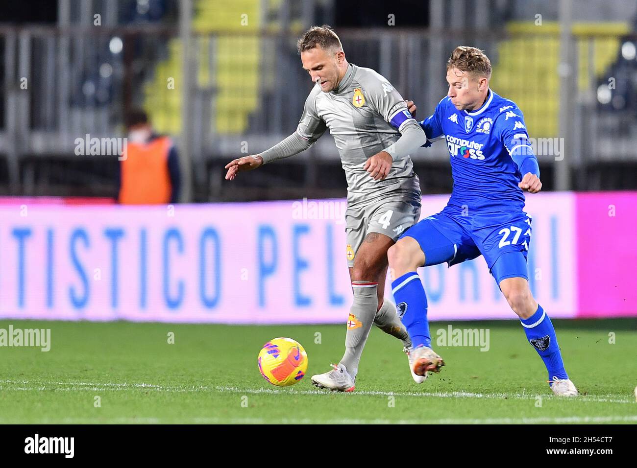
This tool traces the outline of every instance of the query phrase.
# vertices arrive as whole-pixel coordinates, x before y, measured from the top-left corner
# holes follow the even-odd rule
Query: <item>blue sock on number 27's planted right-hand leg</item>
[[[562,355],[559,352],[555,329],[540,304],[538,304],[538,310],[533,315],[529,318],[520,318],[520,322],[522,322],[529,343],[533,344],[533,348],[538,351],[544,361],[544,365],[547,366],[548,380],[552,382],[554,376],[559,379],[568,379],[566,370],[564,370]],[[551,383],[550,385],[553,384]]]

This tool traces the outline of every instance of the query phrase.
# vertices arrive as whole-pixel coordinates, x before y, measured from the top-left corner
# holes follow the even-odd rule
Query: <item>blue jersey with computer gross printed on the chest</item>
[[[429,143],[444,138],[450,154],[454,190],[448,206],[483,213],[522,211],[522,176],[540,176],[524,117],[509,99],[489,90],[475,111],[459,111],[443,98],[420,125]]]

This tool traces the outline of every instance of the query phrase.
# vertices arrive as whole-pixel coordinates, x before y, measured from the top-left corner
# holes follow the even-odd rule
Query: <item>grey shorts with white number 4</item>
[[[354,267],[354,257],[362,241],[370,232],[385,234],[396,241],[404,231],[420,218],[420,199],[387,197],[364,206],[347,208],[347,265]]]

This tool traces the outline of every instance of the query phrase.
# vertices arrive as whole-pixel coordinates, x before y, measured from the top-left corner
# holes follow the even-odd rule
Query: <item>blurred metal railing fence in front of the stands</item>
[[[183,74],[175,28],[0,26],[0,154],[6,169],[0,192],[108,196],[117,161],[110,155],[76,155],[76,139],[86,134],[124,137],[125,111],[143,105],[157,130],[169,132],[179,144],[179,90],[188,86],[193,97],[186,109],[192,122],[187,146],[196,199],[222,199],[221,162],[258,152],[294,131],[311,82],[296,53],[296,32],[214,29],[194,29],[192,73]],[[445,96],[450,50],[476,43],[492,59],[494,90],[519,103],[531,136],[547,145],[548,154],[540,154],[543,170],[550,172],[561,156],[556,153],[562,152],[573,167],[573,188],[621,188],[622,177],[631,178],[630,167],[637,161],[636,99],[634,90],[617,89],[627,80],[609,75],[617,70],[622,45],[637,43],[637,35],[623,25],[574,26],[574,86],[567,90],[560,89],[556,71],[557,25],[529,29],[509,24],[497,31],[342,29],[339,34],[348,60],[383,74],[419,104],[421,118]],[[175,78],[173,89],[169,78]],[[574,110],[568,134],[557,118],[557,97],[564,92]],[[612,108],[613,99],[624,99],[624,106]],[[272,180],[292,188],[289,195],[294,196],[300,193],[294,187],[317,187],[325,167],[338,168],[329,136],[307,153],[285,163],[309,165],[301,174],[297,169],[264,172],[248,196],[273,197],[259,188]],[[444,145],[434,145],[414,158],[444,164],[447,152]],[[617,178],[611,187],[605,182],[609,176]],[[324,194],[332,194],[331,189]]]

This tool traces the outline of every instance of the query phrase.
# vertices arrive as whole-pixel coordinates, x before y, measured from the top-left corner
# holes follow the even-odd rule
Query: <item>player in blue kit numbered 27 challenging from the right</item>
[[[428,144],[445,139],[454,188],[447,206],[406,230],[387,257],[399,315],[412,337],[415,374],[439,372],[442,358],[431,349],[427,297],[416,269],[449,266],[483,255],[529,343],[547,367],[555,395],[575,396],[546,311],[535,301],[527,276],[531,218],[523,190],[541,190],[540,168],[522,111],[489,89],[491,64],[482,50],[459,46],[447,62],[449,90],[420,125]]]

